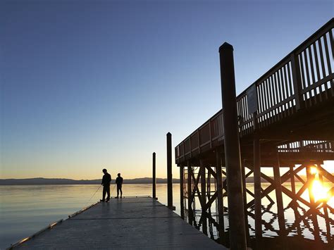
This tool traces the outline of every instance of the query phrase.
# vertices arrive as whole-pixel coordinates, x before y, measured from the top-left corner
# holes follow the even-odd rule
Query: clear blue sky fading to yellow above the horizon
[[[0,0],[0,178],[150,177],[154,151],[166,177],[167,132],[221,109],[223,42],[238,94],[332,17],[330,0]]]

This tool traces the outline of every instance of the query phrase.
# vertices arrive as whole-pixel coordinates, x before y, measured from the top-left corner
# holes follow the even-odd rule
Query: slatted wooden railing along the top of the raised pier
[[[252,135],[254,120],[261,130],[299,110],[333,101],[333,28],[334,18],[237,96],[240,138]],[[175,161],[184,162],[222,144],[221,110],[175,147]]]

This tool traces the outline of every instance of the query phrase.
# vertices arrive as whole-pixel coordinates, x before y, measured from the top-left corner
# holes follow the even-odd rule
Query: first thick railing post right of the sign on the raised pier
[[[291,54],[291,68],[292,68],[292,80],[293,90],[295,92],[295,100],[297,110],[304,108],[304,100],[302,95],[302,77],[300,75],[300,66],[298,55],[295,53]]]

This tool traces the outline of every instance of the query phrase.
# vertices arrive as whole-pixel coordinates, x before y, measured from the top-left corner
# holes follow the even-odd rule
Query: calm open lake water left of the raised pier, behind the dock
[[[41,230],[50,223],[101,199],[99,185],[0,186],[0,249]],[[112,196],[116,189],[111,185]],[[151,195],[149,184],[125,184],[123,196]],[[167,185],[156,185],[156,196],[167,204]],[[180,185],[173,185],[174,206],[180,214]],[[89,199],[92,199],[89,201]]]

